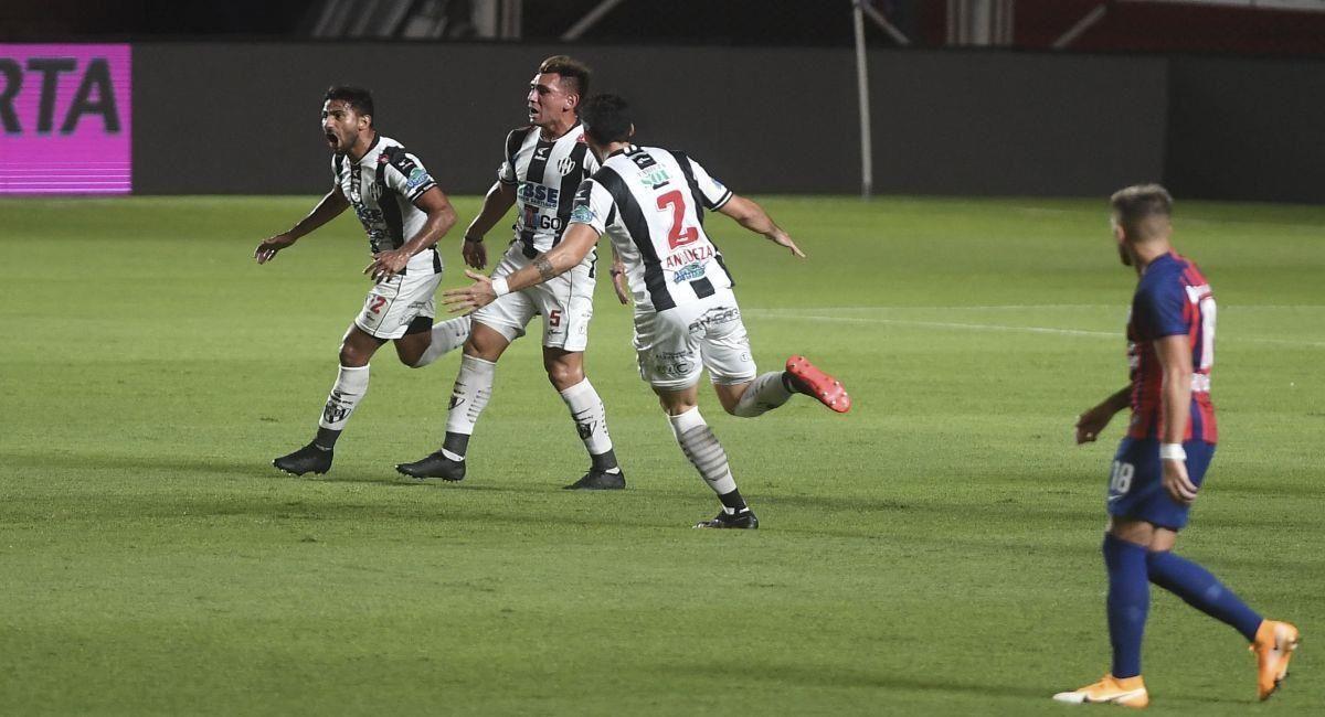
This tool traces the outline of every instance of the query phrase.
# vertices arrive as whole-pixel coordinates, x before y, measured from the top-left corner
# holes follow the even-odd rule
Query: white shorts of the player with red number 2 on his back
[[[660,389],[693,386],[705,368],[714,384],[755,377],[750,337],[730,290],[657,314],[636,314],[635,355],[640,378]]]

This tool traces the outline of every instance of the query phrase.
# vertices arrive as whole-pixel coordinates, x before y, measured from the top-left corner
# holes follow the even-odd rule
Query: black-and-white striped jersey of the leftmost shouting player
[[[331,157],[331,171],[359,216],[374,253],[400,249],[428,221],[428,213],[413,202],[437,183],[399,142],[378,135],[359,161],[339,153]],[[405,273],[439,271],[441,255],[436,247],[415,254],[405,265]]]

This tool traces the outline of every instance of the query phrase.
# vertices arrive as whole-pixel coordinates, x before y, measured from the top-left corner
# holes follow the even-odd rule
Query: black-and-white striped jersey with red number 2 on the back
[[[613,152],[575,193],[571,222],[611,237],[639,308],[666,311],[733,286],[704,212],[731,190],[697,161],[657,147]]]

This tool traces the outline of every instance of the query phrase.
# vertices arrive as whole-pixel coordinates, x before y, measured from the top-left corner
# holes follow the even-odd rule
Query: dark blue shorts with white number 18
[[[1187,478],[1200,487],[1206,468],[1215,458],[1215,444],[1187,441],[1182,448],[1187,451]],[[1187,525],[1187,512],[1191,508],[1169,497],[1161,483],[1162,478],[1159,441],[1124,438],[1109,471],[1109,515],[1143,520],[1173,530]]]

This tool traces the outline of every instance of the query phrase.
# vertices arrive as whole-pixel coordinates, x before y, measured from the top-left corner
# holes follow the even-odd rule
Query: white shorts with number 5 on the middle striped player
[[[543,345],[582,352],[588,347],[588,321],[594,317],[594,254],[575,269],[541,284],[511,291],[473,314],[478,321],[514,341],[535,315],[543,317]],[[513,245],[493,278],[507,276],[530,263]]]

